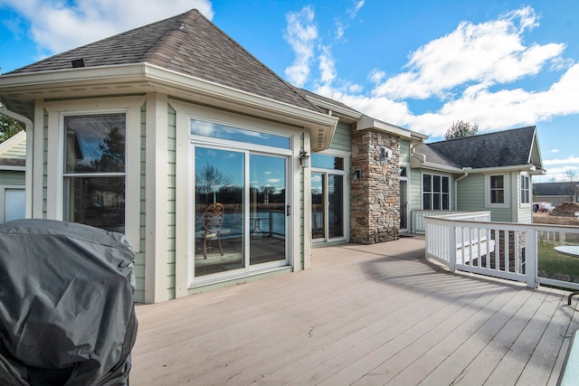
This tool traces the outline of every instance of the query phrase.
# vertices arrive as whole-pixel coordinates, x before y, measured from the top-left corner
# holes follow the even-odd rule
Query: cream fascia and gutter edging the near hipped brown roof
[[[261,97],[250,92],[233,89],[208,80],[201,80],[177,71],[166,70],[150,63],[120,64],[115,66],[86,67],[58,71],[39,71],[8,74],[0,77],[0,93],[32,92],[37,98],[55,98],[54,89],[88,88],[98,85],[133,87],[124,92],[157,90],[184,98],[203,99],[207,103],[223,106],[257,117],[277,119],[298,127],[305,127],[312,137],[323,136],[323,149],[329,147],[338,118]],[[118,92],[122,92],[120,87]],[[44,93],[44,95],[43,95]],[[94,94],[94,90],[91,90]],[[318,141],[312,141],[316,143]]]

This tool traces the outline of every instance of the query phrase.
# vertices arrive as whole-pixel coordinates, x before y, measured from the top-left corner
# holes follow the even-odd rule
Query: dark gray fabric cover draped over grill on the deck
[[[134,257],[88,225],[0,224],[0,384],[128,384]]]

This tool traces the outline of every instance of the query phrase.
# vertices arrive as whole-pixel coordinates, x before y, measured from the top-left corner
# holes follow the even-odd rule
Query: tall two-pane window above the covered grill
[[[125,113],[64,117],[63,219],[125,231]]]

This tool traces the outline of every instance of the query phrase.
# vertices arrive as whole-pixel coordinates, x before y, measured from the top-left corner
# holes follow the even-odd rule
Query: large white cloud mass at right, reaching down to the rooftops
[[[562,57],[565,45],[524,44],[524,33],[537,19],[533,8],[524,7],[482,24],[463,22],[413,52],[406,71],[390,77],[371,71],[372,90],[348,89],[336,71],[331,83],[314,91],[431,137],[442,137],[457,119],[489,131],[579,113],[579,64]],[[564,72],[549,89],[509,88],[515,80],[554,69]],[[407,99],[435,100],[440,107],[416,114]]]

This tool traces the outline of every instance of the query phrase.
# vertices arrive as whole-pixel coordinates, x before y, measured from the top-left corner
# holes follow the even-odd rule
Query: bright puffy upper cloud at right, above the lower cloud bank
[[[508,83],[536,75],[565,49],[564,44],[523,44],[523,33],[536,26],[532,8],[482,24],[462,22],[457,29],[413,52],[402,72],[373,91],[391,99],[444,99],[469,82]]]

